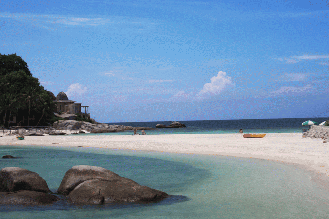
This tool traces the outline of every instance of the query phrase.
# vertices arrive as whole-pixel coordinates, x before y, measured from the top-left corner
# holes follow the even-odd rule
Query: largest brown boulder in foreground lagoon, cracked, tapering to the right
[[[96,166],[72,167],[65,173],[57,192],[67,195],[73,203],[84,204],[156,202],[168,196]]]

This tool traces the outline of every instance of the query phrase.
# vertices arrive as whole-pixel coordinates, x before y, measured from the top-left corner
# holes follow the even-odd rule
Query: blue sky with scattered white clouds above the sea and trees
[[[329,117],[327,1],[0,2],[0,53],[99,122]]]

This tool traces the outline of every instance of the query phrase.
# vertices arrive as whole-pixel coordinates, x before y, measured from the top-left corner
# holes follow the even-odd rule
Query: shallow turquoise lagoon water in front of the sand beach
[[[155,204],[0,206],[0,218],[329,218],[329,191],[268,160],[90,148],[0,146],[0,168],[37,172],[55,191],[74,165],[109,169],[171,196]]]

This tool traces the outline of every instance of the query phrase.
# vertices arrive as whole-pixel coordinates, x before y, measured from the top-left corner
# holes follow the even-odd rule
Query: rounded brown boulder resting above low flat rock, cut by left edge
[[[29,190],[51,192],[46,181],[36,172],[19,167],[6,167],[0,170],[0,192]]]

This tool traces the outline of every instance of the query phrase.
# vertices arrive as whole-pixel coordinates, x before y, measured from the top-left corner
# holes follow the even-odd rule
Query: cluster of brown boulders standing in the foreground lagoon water
[[[52,204],[61,195],[74,204],[149,203],[168,196],[97,166],[73,166],[65,173],[56,193],[35,172],[19,167],[0,170],[0,204]]]

